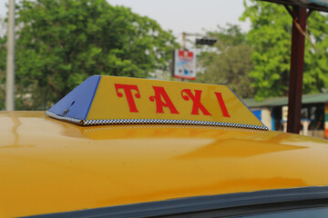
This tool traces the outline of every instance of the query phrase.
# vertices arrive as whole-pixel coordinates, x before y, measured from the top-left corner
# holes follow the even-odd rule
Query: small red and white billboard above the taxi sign
[[[186,50],[175,50],[173,76],[180,79],[196,79],[196,54]]]

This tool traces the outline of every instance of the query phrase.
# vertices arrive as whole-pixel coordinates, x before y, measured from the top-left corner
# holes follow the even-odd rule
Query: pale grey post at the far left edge
[[[15,110],[15,0],[9,0],[5,110]]]

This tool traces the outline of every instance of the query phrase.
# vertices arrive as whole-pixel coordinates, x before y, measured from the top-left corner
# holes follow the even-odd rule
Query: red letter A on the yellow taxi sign
[[[171,114],[179,114],[174,104],[169,99],[169,95],[165,92],[163,87],[152,86],[155,91],[155,96],[150,96],[149,100],[151,102],[156,101],[156,113],[164,113],[163,107],[169,107]],[[164,102],[162,101],[162,98]]]

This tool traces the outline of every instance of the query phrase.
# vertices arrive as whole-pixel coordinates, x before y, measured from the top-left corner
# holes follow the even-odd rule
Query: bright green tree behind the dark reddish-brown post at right
[[[245,5],[241,20],[251,20],[251,30],[247,41],[252,46],[251,59],[254,64],[250,77],[255,97],[288,94],[292,17],[283,5],[251,0]],[[305,42],[303,93],[317,93],[328,86],[328,21],[327,15],[313,12],[308,18],[308,31],[320,52],[315,52],[308,41]]]

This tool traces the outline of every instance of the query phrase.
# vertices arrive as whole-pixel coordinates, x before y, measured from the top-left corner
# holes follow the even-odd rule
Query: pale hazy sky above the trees
[[[9,0],[0,0],[0,16],[5,17]],[[19,2],[19,0],[15,0]],[[108,0],[111,5],[124,5],[138,15],[156,20],[164,30],[172,30],[181,40],[182,32],[204,34],[227,23],[250,29],[250,22],[241,22],[243,0]],[[179,42],[181,43],[181,42]]]

